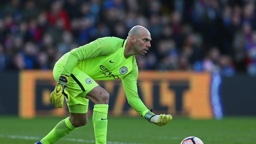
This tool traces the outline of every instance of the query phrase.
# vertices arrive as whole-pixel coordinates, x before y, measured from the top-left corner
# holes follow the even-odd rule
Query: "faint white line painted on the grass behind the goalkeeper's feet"
[[[33,136],[15,136],[15,135],[1,135],[0,137],[7,137],[12,139],[28,139],[28,140],[40,140],[40,137],[33,137]],[[84,139],[70,139],[64,138],[64,141],[73,141],[73,142],[81,142],[81,143],[95,143],[95,140],[84,140]],[[123,143],[123,142],[110,142],[107,141],[107,144],[141,144],[141,143]]]

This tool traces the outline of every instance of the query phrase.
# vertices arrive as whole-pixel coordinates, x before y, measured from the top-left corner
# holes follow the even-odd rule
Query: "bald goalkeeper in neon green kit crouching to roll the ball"
[[[126,40],[116,37],[99,38],[64,54],[53,69],[58,82],[50,95],[55,107],[62,107],[65,99],[70,116],[60,121],[36,144],[52,144],[87,123],[88,102],[95,103],[93,126],[96,144],[106,144],[108,92],[94,80],[121,79],[128,103],[147,121],[158,126],[170,122],[171,115],[156,115],[148,110],[137,93],[138,67],[135,54],[145,55],[151,36],[142,26],[134,26]]]

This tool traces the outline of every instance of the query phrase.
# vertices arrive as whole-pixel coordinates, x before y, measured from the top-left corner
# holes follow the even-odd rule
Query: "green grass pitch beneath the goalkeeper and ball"
[[[64,118],[24,120],[0,116],[0,144],[34,144]],[[256,117],[227,117],[222,120],[176,118],[158,127],[142,117],[108,118],[109,144],[180,144],[188,136],[199,137],[204,144],[255,143]],[[38,139],[39,138],[39,139]],[[56,144],[93,143],[91,118],[88,124],[69,133]]]

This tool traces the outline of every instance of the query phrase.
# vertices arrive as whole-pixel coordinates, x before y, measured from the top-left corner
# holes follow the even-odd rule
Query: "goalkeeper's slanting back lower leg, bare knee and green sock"
[[[70,113],[70,117],[60,121],[42,140],[42,144],[52,144],[69,132],[87,123],[87,113]]]

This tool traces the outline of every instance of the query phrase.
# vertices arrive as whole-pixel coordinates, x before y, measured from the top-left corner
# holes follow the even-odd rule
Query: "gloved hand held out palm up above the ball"
[[[148,111],[145,114],[144,118],[146,120],[148,120],[149,122],[154,123],[158,126],[166,125],[172,120],[171,115],[165,115],[165,114],[156,115],[156,114],[152,113],[152,110]]]

